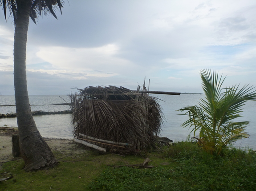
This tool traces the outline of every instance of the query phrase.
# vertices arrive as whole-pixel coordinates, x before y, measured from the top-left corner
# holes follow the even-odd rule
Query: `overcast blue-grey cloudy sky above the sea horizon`
[[[65,0],[58,19],[30,19],[28,94],[88,86],[203,93],[200,70],[223,86],[256,86],[255,0]],[[13,95],[13,18],[0,11],[0,94]]]

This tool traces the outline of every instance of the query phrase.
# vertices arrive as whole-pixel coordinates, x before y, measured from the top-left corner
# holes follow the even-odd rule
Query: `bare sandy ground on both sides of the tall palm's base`
[[[0,169],[4,162],[14,159],[12,156],[12,135],[15,134],[17,134],[17,131],[14,130],[0,131]],[[45,137],[44,139],[52,151],[55,150],[65,155],[85,152],[85,149],[79,147],[71,139],[54,139]]]

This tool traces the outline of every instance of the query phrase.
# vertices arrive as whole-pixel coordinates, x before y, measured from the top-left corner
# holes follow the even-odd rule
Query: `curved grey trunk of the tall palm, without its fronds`
[[[26,79],[26,44],[30,1],[17,4],[14,34],[14,88],[21,155],[26,171],[53,167],[57,160],[43,140],[32,116]]]

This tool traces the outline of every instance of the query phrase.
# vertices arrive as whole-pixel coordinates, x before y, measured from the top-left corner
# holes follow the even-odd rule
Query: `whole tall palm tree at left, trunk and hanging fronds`
[[[29,17],[36,23],[35,18],[41,11],[52,13],[59,8],[60,0],[0,0],[6,19],[6,9],[13,16],[14,33],[14,89],[16,101],[17,124],[19,129],[20,150],[24,159],[26,171],[53,167],[57,160],[48,144],[37,130],[33,120],[27,89],[26,79],[26,45]],[[57,17],[56,17],[57,18]]]

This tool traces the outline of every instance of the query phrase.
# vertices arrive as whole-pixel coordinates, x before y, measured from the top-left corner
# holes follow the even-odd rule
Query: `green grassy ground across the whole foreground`
[[[4,163],[0,173],[13,179],[0,182],[0,191],[254,191],[256,153],[223,149],[212,156],[191,142],[175,143],[150,152],[155,168],[113,168],[141,164],[145,157],[86,151],[73,156],[54,152],[58,167],[24,172],[23,161]]]

